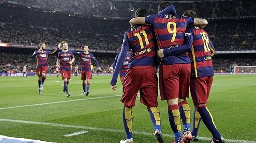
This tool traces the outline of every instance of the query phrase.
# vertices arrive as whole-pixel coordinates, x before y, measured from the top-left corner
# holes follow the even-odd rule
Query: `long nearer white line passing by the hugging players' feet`
[[[48,125],[48,126],[55,126],[55,127],[66,127],[66,128],[80,128],[80,129],[84,129],[84,130],[111,131],[111,132],[125,133],[125,131],[117,130],[117,129],[94,128],[94,127],[68,125],[68,124],[56,124],[56,123],[33,122],[33,121],[10,120],[10,119],[0,119],[0,121],[14,122],[14,123],[24,123],[24,124],[40,124],[40,125]],[[134,134],[139,134],[139,135],[154,135],[153,132],[133,131],[133,133]],[[165,137],[165,136],[166,137],[173,137],[173,135],[171,135],[171,134],[163,134],[163,137]],[[207,140],[207,141],[210,140],[210,138],[207,138],[207,137],[199,137],[199,139]],[[236,139],[225,139],[225,141],[231,142],[231,143],[256,143],[256,141],[236,140]]]

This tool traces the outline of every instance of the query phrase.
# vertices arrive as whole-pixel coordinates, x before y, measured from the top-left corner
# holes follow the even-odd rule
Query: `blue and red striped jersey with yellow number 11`
[[[152,27],[146,25],[130,27],[124,35],[123,46],[129,46],[132,50],[129,67],[156,66]]]

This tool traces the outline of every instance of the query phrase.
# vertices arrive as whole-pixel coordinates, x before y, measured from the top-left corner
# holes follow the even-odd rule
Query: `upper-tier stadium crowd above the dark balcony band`
[[[69,8],[76,9],[80,7],[78,3],[77,6],[73,5],[72,7],[72,4],[69,4],[68,1],[59,1],[60,3],[58,4],[63,3],[64,5],[71,5],[70,7],[63,7],[66,8],[65,10],[72,11],[72,9]],[[44,7],[49,6],[49,8],[53,6],[51,3],[55,2],[56,1],[47,1],[46,3],[41,0],[36,0],[38,5]],[[89,5],[93,3],[97,10],[90,11],[99,12],[98,14],[101,15],[102,13],[108,13],[105,12],[105,8],[107,7],[100,9],[101,7],[96,7],[96,5],[102,5],[106,2],[106,0],[95,0],[93,2],[89,1],[89,3],[86,4]],[[32,2],[19,0],[19,3],[31,5]],[[110,3],[116,11],[118,11],[118,8],[125,9],[124,7],[129,5],[129,7],[134,6],[134,8],[132,8],[134,10],[137,7],[149,7],[151,13],[156,12],[155,5],[157,5],[145,1],[126,1],[122,2],[123,6],[121,6],[118,1],[110,1]],[[183,13],[182,11],[185,10],[184,4],[177,2],[174,4],[177,13]],[[204,12],[203,9],[200,9],[198,6],[199,4],[204,5],[209,8],[209,10]],[[244,14],[244,8],[241,6],[248,6],[250,3],[243,1],[242,4],[240,4],[234,0],[223,2],[206,1],[187,4],[186,8],[191,7],[191,9],[196,9],[199,17],[227,17],[226,15],[220,15],[219,12],[223,12],[223,10],[225,10],[224,5],[229,4],[240,5],[240,7],[236,8],[234,12],[232,11],[234,8],[231,8],[231,11],[225,13],[227,16],[233,15],[234,13],[237,13],[237,15]],[[88,11],[87,8],[83,9],[86,9],[86,12]],[[240,11],[237,9],[240,9]],[[251,12],[250,9],[252,8],[249,6],[247,13],[255,15],[255,12]],[[126,11],[123,12],[126,13]],[[112,13],[122,14],[122,12],[119,11],[113,11]],[[127,13],[126,16],[128,16]],[[130,15],[130,17],[132,16],[133,15]],[[216,50],[255,50],[256,29],[252,23],[256,23],[255,19],[215,19],[210,20],[205,29],[208,31]],[[50,46],[57,46],[59,41],[65,40],[69,42],[70,47],[81,47],[86,44],[90,45],[92,49],[120,50],[123,33],[129,27],[130,24],[127,19],[102,19],[101,17],[74,16],[74,14],[69,16],[68,13],[63,12],[42,11],[36,8],[27,8],[5,3],[0,4],[0,41],[4,43],[37,44],[41,41],[45,41]]]

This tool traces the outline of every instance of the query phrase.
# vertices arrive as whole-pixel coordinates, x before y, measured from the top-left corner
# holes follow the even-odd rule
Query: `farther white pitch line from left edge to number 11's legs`
[[[29,106],[40,106],[40,105],[56,104],[56,103],[65,103],[65,102],[73,102],[73,101],[80,101],[80,100],[100,99],[100,98],[108,98],[108,97],[120,97],[120,96],[122,96],[122,95],[114,95],[114,96],[107,96],[107,97],[94,97],[94,98],[85,98],[85,99],[76,99],[76,100],[66,100],[66,101],[49,102],[49,103],[41,103],[41,104],[31,104],[31,105],[22,105],[22,106],[12,106],[12,107],[0,108],[0,110],[11,109],[11,108],[20,108],[20,107],[29,107]]]

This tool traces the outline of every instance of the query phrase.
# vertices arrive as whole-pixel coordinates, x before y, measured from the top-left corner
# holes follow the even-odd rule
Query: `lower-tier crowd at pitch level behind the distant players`
[[[0,53],[0,73],[9,73],[13,71],[13,73],[20,73],[25,64],[28,65],[28,72],[33,70],[35,73],[36,70],[36,58],[30,58],[31,54],[14,54],[14,53]],[[95,57],[102,68],[102,72],[109,72],[108,69],[114,62],[113,57]],[[80,60],[77,56],[75,56],[75,62],[72,64],[74,67],[76,64],[80,65]],[[57,55],[50,55],[48,58],[48,73],[54,73],[56,71],[55,63],[57,60]],[[255,66],[256,58],[212,58],[213,67],[215,73],[221,72],[231,72],[232,65],[236,63],[238,66]],[[93,63],[93,66],[96,66]],[[231,68],[231,69],[230,69]],[[74,68],[73,68],[74,69]],[[96,73],[96,68],[93,71]],[[100,72],[101,73],[101,72]]]

